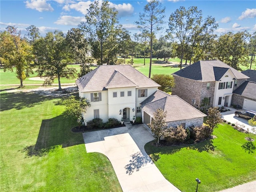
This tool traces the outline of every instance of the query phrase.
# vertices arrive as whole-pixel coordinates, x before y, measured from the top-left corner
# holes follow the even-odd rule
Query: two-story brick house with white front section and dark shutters
[[[196,108],[209,98],[210,107],[230,106],[233,90],[249,77],[220,60],[200,60],[172,74],[177,95]]]

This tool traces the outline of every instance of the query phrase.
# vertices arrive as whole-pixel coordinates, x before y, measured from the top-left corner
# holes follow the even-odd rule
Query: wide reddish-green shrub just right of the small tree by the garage
[[[188,132],[181,125],[177,128],[169,127],[163,131],[163,137],[170,144],[183,143],[188,137]]]

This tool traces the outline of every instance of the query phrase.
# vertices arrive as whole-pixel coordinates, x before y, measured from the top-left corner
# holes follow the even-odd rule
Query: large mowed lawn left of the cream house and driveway
[[[2,90],[1,90],[2,91]],[[59,98],[2,91],[0,191],[122,191],[109,160],[86,153]]]

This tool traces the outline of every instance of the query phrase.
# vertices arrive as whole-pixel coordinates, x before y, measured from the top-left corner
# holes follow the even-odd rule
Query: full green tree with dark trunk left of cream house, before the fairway
[[[38,59],[37,72],[40,77],[45,77],[44,84],[52,84],[54,78],[58,78],[59,90],[62,90],[60,77],[74,78],[76,69],[67,65],[71,61],[66,37],[61,31],[46,33],[34,44]]]

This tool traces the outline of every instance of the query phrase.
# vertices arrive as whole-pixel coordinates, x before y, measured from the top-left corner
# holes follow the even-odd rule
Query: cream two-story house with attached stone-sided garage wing
[[[88,98],[91,104],[84,114],[85,121],[94,118],[102,118],[104,122],[108,118],[132,120],[136,116],[147,124],[154,111],[162,108],[167,111],[166,121],[170,125],[188,127],[202,125],[206,116],[178,96],[158,90],[159,84],[130,65],[99,66],[76,80],[76,84],[79,96]]]

